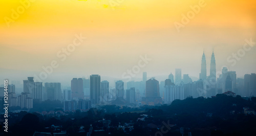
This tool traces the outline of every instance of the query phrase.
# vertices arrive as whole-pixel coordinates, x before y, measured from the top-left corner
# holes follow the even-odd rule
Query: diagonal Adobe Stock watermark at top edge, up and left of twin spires
[[[209,0],[210,1],[210,0]],[[180,32],[180,28],[184,28],[185,25],[187,25],[191,19],[193,19],[196,14],[198,14],[200,11],[201,11],[201,8],[205,7],[206,6],[206,3],[204,0],[200,0],[198,2],[198,5],[195,5],[195,6],[189,6],[191,10],[189,10],[186,15],[185,14],[181,14],[182,18],[181,18],[181,21],[178,22],[178,21],[175,21],[174,22],[174,26],[175,28],[177,29],[178,32]]]

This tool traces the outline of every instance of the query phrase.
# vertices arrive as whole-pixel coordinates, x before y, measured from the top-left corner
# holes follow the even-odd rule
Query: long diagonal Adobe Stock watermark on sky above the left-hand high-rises
[[[65,61],[67,59],[67,56],[70,56],[72,52],[75,51],[76,47],[80,46],[86,37],[83,37],[82,34],[80,35],[75,34],[73,43],[68,44],[66,48],[62,48],[60,51],[57,52],[57,57],[60,59],[60,61]],[[34,74],[34,80],[38,82],[42,82],[42,80],[45,80],[48,75],[52,74],[53,70],[56,69],[59,66],[58,61],[52,60],[50,65],[42,66],[42,72],[39,73],[39,75]]]

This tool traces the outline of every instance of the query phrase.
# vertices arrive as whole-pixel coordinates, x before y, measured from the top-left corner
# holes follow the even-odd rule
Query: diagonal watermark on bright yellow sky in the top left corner
[[[19,5],[16,10],[11,9],[12,13],[11,13],[11,17],[4,17],[5,23],[7,25],[7,27],[10,27],[11,22],[15,22],[15,20],[17,20],[19,18],[19,16],[21,14],[23,14],[25,12],[26,9],[28,9],[31,6],[31,3],[34,3],[36,0],[20,0],[19,3],[21,5]]]

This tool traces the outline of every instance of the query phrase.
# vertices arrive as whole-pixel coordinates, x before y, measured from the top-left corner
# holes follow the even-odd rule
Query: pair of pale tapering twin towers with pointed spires
[[[207,79],[207,76],[206,76],[206,59],[205,59],[204,53],[203,53],[203,56],[202,56],[201,73],[200,73],[199,77],[202,80],[206,80]],[[211,59],[210,59],[210,76],[208,78],[216,80],[216,62],[215,62],[214,51],[212,51],[212,54],[211,54]]]

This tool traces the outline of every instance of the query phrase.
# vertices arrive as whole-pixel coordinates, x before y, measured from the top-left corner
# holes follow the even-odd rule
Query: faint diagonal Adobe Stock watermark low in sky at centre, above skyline
[[[146,54],[145,56],[140,55],[140,60],[138,61],[138,65],[134,65],[132,67],[132,70],[127,70],[122,74],[122,79],[128,79],[127,81],[130,81],[132,78],[136,76],[136,74],[140,73],[140,70],[146,66],[146,64],[151,61],[152,58],[147,58]]]

